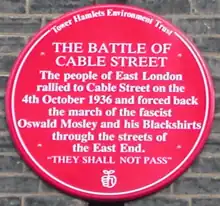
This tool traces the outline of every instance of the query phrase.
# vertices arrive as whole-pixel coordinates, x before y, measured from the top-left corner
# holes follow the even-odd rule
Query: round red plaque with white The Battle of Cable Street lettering
[[[68,13],[20,54],[7,121],[43,179],[83,198],[128,200],[190,166],[214,114],[208,69],[174,26],[142,9]]]

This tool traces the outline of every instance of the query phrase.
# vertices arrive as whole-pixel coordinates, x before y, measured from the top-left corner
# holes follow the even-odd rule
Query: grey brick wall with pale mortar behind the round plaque
[[[106,2],[97,0],[97,3]],[[15,58],[35,31],[64,12],[92,3],[88,0],[0,0],[0,206],[87,205],[84,201],[68,197],[46,185],[19,158],[5,122],[4,90]],[[220,0],[129,0],[128,4],[163,15],[195,41],[210,66],[217,105],[212,134],[189,171],[163,191],[125,205],[218,206]]]

